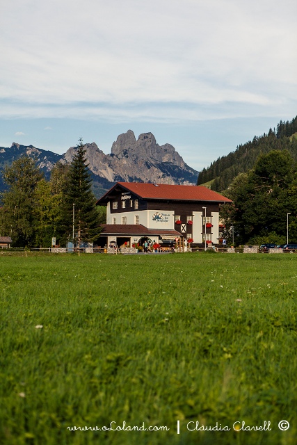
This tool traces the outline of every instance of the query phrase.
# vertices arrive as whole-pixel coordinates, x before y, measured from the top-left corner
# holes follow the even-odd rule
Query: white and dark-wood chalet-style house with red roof
[[[225,202],[232,201],[204,186],[118,182],[97,201],[106,205],[99,243],[120,248],[149,239],[164,245],[183,237],[203,245],[206,237],[216,244]]]

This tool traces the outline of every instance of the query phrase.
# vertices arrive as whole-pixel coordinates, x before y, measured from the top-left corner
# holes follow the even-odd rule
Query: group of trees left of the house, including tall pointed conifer
[[[57,245],[96,241],[105,215],[96,206],[86,161],[80,139],[72,163],[56,163],[49,181],[28,156],[6,166],[0,235],[10,236],[18,247],[48,248],[53,237]]]

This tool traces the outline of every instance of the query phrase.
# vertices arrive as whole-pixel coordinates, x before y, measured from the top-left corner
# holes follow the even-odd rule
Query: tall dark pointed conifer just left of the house
[[[74,238],[77,239],[78,245],[84,241],[95,241],[99,236],[96,198],[91,188],[92,179],[86,161],[86,149],[80,138],[77,152],[70,164],[65,200],[67,232],[72,234],[72,229],[74,229]]]

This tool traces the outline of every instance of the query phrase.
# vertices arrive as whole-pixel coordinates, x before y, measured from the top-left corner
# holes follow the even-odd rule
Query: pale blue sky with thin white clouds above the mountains
[[[152,132],[196,170],[297,115],[294,0],[0,6],[0,146],[108,154]]]

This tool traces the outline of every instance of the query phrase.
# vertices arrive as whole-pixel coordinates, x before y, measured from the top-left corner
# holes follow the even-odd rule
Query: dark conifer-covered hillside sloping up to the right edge
[[[260,154],[267,154],[273,149],[287,149],[293,159],[297,160],[297,116],[291,122],[282,122],[277,129],[269,129],[263,136],[253,138],[248,143],[239,145],[234,152],[222,156],[204,168],[198,177],[198,185],[212,181],[211,189],[222,192],[232,179],[241,172],[248,172]]]

